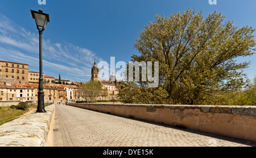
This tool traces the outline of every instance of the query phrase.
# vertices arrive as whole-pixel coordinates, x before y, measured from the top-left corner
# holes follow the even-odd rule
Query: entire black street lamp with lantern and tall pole
[[[38,110],[36,113],[46,113],[44,109],[44,90],[43,90],[43,72],[42,72],[42,35],[46,28],[47,22],[49,22],[49,14],[43,13],[43,10],[30,10],[32,18],[35,19],[36,27],[39,31],[39,91],[38,91]]]

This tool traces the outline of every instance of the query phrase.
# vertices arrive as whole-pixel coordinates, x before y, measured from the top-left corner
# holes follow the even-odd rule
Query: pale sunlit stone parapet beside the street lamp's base
[[[0,126],[0,147],[46,147],[53,145],[55,104],[47,113],[31,113]]]

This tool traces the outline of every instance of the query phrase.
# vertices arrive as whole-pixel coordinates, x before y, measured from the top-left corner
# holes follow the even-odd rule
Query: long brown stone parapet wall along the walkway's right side
[[[70,103],[69,106],[256,142],[256,106],[122,103]]]

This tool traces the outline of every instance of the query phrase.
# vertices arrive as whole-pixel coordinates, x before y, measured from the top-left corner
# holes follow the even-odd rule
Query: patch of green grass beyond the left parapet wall
[[[32,110],[32,109],[36,109],[36,107],[37,107],[37,105],[30,105],[30,106],[28,106],[28,109]],[[7,107],[7,106],[1,107],[1,109],[0,109],[0,126],[4,123],[10,122],[10,121],[20,117],[27,111],[20,110],[20,109],[12,109],[11,107]]]

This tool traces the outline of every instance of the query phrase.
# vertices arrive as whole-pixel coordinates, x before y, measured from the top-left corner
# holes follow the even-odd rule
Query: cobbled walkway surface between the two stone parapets
[[[56,105],[57,147],[243,147],[256,143]]]

